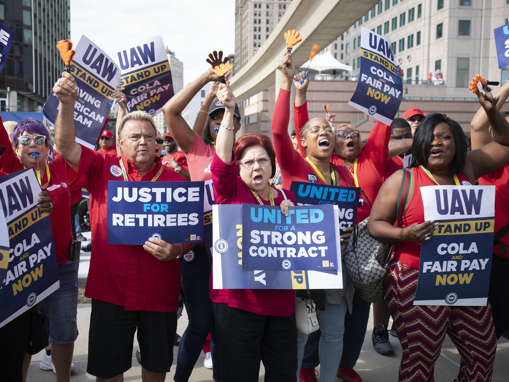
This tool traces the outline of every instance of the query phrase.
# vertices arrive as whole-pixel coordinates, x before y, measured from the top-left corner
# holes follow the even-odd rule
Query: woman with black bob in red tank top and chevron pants
[[[413,305],[420,244],[431,237],[436,223],[424,220],[420,186],[468,185],[509,159],[509,123],[496,110],[496,101],[479,93],[493,126],[495,142],[467,152],[461,126],[443,114],[422,120],[412,145],[411,185],[401,227],[394,227],[403,173],[382,185],[370,215],[370,233],[395,241],[394,258],[387,268],[384,292],[403,347],[400,381],[433,380],[434,365],[445,334],[461,355],[459,380],[491,380],[496,338],[491,306]],[[502,146],[504,145],[504,146]],[[429,335],[432,331],[433,335]],[[482,373],[479,375],[478,373]]]

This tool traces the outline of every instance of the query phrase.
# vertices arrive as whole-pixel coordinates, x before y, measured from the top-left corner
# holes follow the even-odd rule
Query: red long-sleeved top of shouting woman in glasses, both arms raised
[[[299,121],[304,121],[305,119],[302,125],[308,120],[307,103],[299,106],[299,111],[303,108],[305,108],[305,115],[302,112],[296,117]],[[279,165],[279,170],[281,170],[283,188],[289,189],[292,180],[309,182],[310,178],[316,178],[316,183],[324,184],[309,163],[293,148],[292,140],[290,135],[288,135],[289,121],[290,92],[288,90],[279,89],[279,95],[274,106],[274,113],[272,114],[272,141],[274,142],[277,164]],[[297,135],[299,134],[300,130],[297,132]],[[337,167],[337,172],[340,176],[336,179],[336,185],[353,186],[350,181],[350,174],[343,165]]]

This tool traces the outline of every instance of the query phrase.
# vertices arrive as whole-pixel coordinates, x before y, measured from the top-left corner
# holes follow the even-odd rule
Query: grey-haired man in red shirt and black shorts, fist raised
[[[64,72],[53,87],[60,101],[55,142],[67,161],[67,179],[90,192],[92,254],[85,295],[92,298],[87,372],[97,380],[123,380],[131,367],[134,333],[142,352],[142,379],[164,380],[173,362],[180,266],[176,258],[193,244],[149,238],[145,245],[108,244],[108,180],[182,181],[155,158],[156,128],[144,112],[133,112],[119,127],[123,155],[101,156],[74,141],[74,78]]]

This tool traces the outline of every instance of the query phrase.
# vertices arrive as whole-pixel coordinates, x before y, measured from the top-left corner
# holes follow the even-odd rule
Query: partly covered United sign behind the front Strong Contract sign
[[[294,193],[298,205],[336,205],[340,220],[340,232],[345,228],[353,227],[359,206],[360,187],[292,181],[290,191]]]

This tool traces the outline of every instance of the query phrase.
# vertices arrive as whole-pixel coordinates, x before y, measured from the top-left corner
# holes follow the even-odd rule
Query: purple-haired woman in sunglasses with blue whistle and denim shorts
[[[8,146],[0,159],[0,170],[13,173],[33,168],[43,190],[52,199],[50,215],[56,260],[59,267],[60,288],[43,301],[49,319],[49,343],[51,358],[58,380],[69,380],[74,341],[78,337],[76,313],[78,304],[79,259],[70,253],[71,203],[69,186],[65,176],[65,160],[62,157],[46,164],[49,131],[41,121],[27,118],[19,122],[13,131],[14,149],[5,128],[0,129],[0,145]],[[16,151],[16,153],[14,152]],[[17,154],[17,156],[16,156]],[[78,254],[79,256],[79,254]]]

